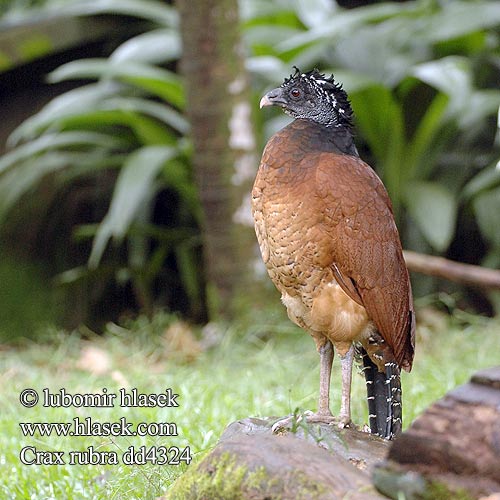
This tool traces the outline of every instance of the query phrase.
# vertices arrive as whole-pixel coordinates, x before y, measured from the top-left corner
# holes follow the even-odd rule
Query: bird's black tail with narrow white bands
[[[394,362],[385,363],[380,372],[365,349],[361,348],[363,372],[366,380],[368,415],[372,434],[393,439],[401,432],[401,379]]]

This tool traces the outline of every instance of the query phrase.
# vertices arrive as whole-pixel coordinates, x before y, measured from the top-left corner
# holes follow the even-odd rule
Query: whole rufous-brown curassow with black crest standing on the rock
[[[342,86],[317,70],[295,69],[260,101],[295,120],[271,137],[262,155],[252,191],[257,239],[289,318],[312,336],[320,355],[318,411],[307,420],[350,423],[357,350],[371,432],[390,439],[401,430],[400,368],[410,371],[415,338],[392,205],[358,156]],[[342,373],[338,418],[329,406],[333,348]]]

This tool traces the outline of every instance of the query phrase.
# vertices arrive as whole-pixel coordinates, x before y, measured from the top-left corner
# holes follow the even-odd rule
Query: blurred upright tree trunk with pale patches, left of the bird
[[[177,0],[187,114],[204,210],[209,314],[231,317],[252,281],[249,192],[257,160],[237,0]]]

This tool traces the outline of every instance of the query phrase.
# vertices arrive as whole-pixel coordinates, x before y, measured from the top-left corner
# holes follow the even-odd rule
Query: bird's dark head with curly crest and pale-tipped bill
[[[352,108],[347,93],[342,85],[335,83],[333,75],[326,78],[317,69],[301,73],[295,67],[294,75],[260,100],[260,107],[264,106],[280,106],[293,118],[326,127],[352,128]]]

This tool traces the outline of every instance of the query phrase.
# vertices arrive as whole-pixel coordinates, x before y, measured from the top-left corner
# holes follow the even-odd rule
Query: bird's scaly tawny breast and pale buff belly
[[[343,350],[369,331],[370,321],[335,279],[332,236],[322,229],[314,175],[313,168],[292,176],[263,163],[252,192],[255,229],[290,319]]]

